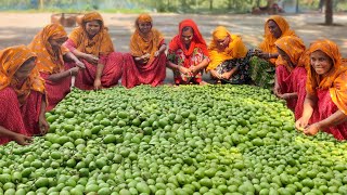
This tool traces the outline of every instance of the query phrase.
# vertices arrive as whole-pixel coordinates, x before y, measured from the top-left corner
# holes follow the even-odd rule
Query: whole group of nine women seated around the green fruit
[[[99,90],[118,84],[120,78],[126,88],[156,87],[166,67],[172,69],[175,84],[205,84],[204,72],[217,83],[261,87],[272,78],[274,94],[295,112],[297,129],[347,139],[347,68],[334,42],[319,40],[306,49],[279,15],[266,22],[265,40],[254,50],[223,26],[213,31],[207,46],[197,25],[184,20],[167,47],[149,14],[141,14],[134,25],[130,53],[125,54],[115,52],[98,12],[85,14],[69,36],[63,26],[50,24],[28,46],[0,51],[0,144],[28,144],[31,135],[44,134],[44,113],[72,87]],[[253,64],[252,57],[264,63]]]

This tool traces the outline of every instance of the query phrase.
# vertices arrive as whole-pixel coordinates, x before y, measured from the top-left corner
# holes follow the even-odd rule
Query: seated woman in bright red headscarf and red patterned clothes
[[[169,43],[167,66],[174,70],[176,84],[204,84],[203,70],[209,63],[206,42],[192,20],[179,25],[179,35]]]

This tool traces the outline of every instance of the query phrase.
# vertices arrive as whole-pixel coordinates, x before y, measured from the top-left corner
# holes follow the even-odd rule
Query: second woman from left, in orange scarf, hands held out
[[[81,63],[67,48],[62,44],[67,34],[62,25],[47,25],[35,36],[28,48],[36,53],[36,67],[46,80],[48,110],[51,110],[70,91],[72,77],[76,76]],[[78,67],[65,67],[64,57],[74,61]]]

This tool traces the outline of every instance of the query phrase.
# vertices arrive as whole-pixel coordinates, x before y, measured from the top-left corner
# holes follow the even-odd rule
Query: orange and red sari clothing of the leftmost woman
[[[18,83],[14,75],[31,57],[36,57],[35,53],[25,46],[0,51],[0,126],[28,135],[39,133],[38,117],[41,101],[44,101],[44,81],[36,68],[23,83]],[[0,136],[0,144],[10,141],[10,138]]]

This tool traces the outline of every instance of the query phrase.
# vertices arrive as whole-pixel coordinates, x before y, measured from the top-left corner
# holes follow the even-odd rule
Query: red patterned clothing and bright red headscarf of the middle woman
[[[191,27],[194,31],[193,39],[190,47],[187,49],[182,42],[182,29],[184,27]],[[195,66],[208,58],[207,44],[201,35],[196,24],[192,20],[184,20],[179,25],[179,35],[175,36],[169,43],[168,60],[178,66],[184,66],[187,68]],[[174,72],[174,79],[176,84],[185,83],[192,81],[200,83],[202,81],[203,70],[195,75],[183,75],[179,72]]]

